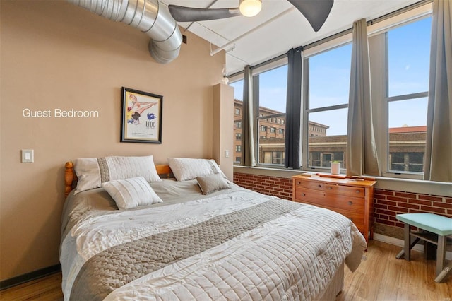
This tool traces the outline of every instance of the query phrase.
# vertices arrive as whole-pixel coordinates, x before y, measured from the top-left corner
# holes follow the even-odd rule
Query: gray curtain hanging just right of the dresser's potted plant
[[[353,23],[352,69],[348,103],[347,176],[380,175],[376,156],[365,19]]]

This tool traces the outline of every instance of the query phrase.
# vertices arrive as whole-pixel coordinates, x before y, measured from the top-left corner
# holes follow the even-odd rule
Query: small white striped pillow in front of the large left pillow
[[[112,196],[119,209],[162,203],[144,177],[117,179],[102,183],[102,187]]]

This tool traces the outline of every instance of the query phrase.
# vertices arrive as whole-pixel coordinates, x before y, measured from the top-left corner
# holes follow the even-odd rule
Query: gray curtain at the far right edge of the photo
[[[424,179],[452,182],[452,1],[434,0]]]

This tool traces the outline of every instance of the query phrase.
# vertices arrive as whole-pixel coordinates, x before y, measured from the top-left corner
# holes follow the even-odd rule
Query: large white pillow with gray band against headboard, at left
[[[74,194],[101,187],[102,183],[115,179],[144,177],[148,182],[162,180],[157,174],[152,155],[143,157],[80,158],[75,160],[74,170],[78,177]]]

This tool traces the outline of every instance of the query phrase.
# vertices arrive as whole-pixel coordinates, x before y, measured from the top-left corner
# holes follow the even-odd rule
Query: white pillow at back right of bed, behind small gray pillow
[[[168,158],[168,162],[177,181],[186,181],[203,175],[215,174],[221,174],[226,177],[213,159]]]

